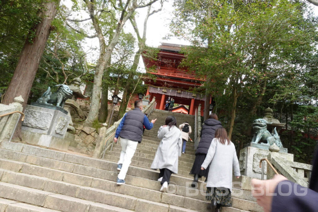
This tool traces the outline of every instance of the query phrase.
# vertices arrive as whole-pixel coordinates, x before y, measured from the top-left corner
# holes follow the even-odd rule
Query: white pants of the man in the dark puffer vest
[[[129,140],[127,138],[120,138],[121,153],[117,164],[122,163],[121,170],[118,174],[118,179],[125,180],[128,167],[131,163],[131,158],[134,156],[138,141]]]

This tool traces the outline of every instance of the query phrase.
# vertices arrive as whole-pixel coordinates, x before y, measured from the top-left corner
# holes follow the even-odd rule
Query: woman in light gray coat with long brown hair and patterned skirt
[[[211,164],[210,164],[211,163]],[[226,130],[219,127],[211,142],[208,154],[201,165],[201,170],[210,164],[208,181],[206,184],[206,200],[211,200],[212,211],[220,211],[221,206],[231,207],[232,199],[232,171],[239,178],[239,160],[236,156],[234,144],[227,137]]]

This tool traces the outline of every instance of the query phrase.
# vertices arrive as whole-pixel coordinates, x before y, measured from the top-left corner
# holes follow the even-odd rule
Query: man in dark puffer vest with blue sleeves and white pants
[[[117,163],[117,170],[120,171],[117,177],[117,185],[125,183],[126,173],[135,154],[137,144],[142,140],[143,126],[150,130],[157,119],[151,120],[142,113],[143,106],[141,100],[135,101],[135,109],[125,113],[116,129],[114,142],[121,138],[121,154]]]

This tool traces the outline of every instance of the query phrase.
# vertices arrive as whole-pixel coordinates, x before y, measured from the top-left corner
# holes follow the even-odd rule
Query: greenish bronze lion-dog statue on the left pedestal
[[[52,93],[51,88],[48,87],[47,91],[45,91],[36,102],[47,105],[53,105],[56,103],[56,106],[63,108],[66,99],[72,98],[73,91],[67,85],[59,84],[55,86],[59,86],[56,92]]]

